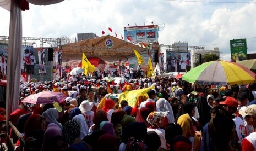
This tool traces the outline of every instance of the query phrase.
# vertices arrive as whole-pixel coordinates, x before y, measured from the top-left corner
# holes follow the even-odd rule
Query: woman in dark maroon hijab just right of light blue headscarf
[[[89,135],[92,132],[100,129],[100,123],[102,121],[108,121],[107,113],[103,109],[99,109],[94,115],[94,124],[89,129]]]

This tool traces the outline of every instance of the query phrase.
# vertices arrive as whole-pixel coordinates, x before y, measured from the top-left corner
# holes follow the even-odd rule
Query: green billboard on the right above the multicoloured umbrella
[[[247,60],[246,39],[230,40],[232,62]]]

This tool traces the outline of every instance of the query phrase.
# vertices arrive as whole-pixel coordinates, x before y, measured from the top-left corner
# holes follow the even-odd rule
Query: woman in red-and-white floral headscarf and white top
[[[167,149],[165,140],[165,129],[161,129],[161,127],[165,127],[167,124],[164,121],[164,117],[165,116],[163,113],[154,111],[148,115],[146,121],[148,121],[149,124],[149,128],[147,129],[148,132],[155,131],[160,137],[161,148]]]

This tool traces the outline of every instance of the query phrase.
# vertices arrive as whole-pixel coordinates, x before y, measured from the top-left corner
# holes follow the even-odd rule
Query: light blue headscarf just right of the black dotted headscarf
[[[75,115],[75,117],[72,120],[75,120],[75,121],[77,121],[77,123],[80,124],[79,138],[80,138],[80,140],[83,140],[84,137],[88,135],[88,126],[87,126],[84,116],[82,114],[78,114],[78,115]]]

